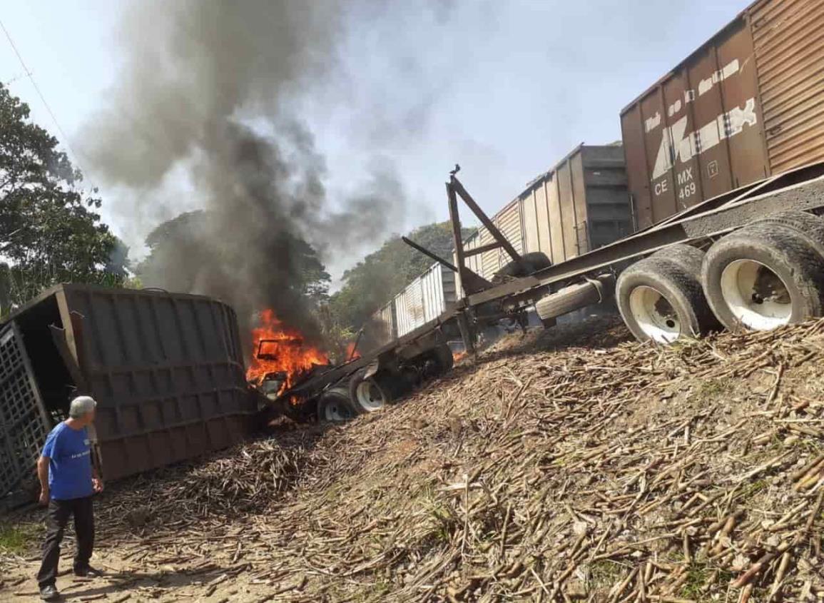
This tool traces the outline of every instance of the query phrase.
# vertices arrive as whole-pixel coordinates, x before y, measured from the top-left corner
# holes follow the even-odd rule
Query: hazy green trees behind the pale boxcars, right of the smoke
[[[471,235],[465,228],[463,237]],[[428,224],[410,232],[409,238],[428,250],[452,261],[452,225]],[[393,235],[381,249],[367,255],[344,273],[344,286],[330,298],[332,315],[339,325],[359,329],[379,307],[390,301],[414,278],[424,273],[433,260],[412,249]]]

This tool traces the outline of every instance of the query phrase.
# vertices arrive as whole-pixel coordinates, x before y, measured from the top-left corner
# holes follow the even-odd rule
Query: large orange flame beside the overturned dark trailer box
[[[329,363],[325,353],[305,345],[302,335],[283,325],[274,316],[274,311],[260,311],[258,320],[260,326],[252,330],[252,360],[246,370],[247,381],[260,383],[270,372],[285,372],[287,377],[281,388],[283,392],[311,367]],[[258,358],[259,355],[262,358]]]

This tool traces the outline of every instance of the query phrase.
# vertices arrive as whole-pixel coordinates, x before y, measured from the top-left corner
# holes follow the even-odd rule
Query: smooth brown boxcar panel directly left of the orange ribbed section
[[[745,22],[721,41],[717,57],[717,86],[723,99],[722,133],[728,141],[733,188],[737,189],[769,175],[756,59]]]

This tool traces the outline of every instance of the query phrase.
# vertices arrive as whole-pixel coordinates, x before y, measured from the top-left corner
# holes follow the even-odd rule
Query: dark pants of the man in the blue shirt
[[[66,529],[68,517],[74,516],[74,532],[77,535],[77,550],[74,554],[74,569],[89,567],[91,549],[95,545],[95,516],[91,508],[91,496],[71,500],[50,500],[49,515],[46,517],[46,541],[43,544],[43,563],[37,573],[40,588],[52,585],[57,579],[57,563],[60,560],[60,543]]]

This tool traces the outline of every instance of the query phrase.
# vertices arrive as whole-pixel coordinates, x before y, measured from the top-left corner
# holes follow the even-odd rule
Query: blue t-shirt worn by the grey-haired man
[[[49,490],[54,500],[91,496],[91,445],[86,428],[59,423],[46,437],[43,456],[49,457]]]

